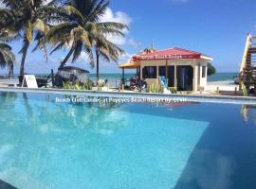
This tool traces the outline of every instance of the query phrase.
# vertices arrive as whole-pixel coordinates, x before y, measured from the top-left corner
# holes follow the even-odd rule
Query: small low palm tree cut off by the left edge
[[[9,76],[13,75],[13,64],[15,62],[15,55],[11,52],[11,47],[7,43],[1,43],[0,40],[0,67],[8,66]]]

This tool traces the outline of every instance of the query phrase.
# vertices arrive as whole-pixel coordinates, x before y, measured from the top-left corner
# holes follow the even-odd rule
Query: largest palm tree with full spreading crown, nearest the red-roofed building
[[[53,26],[47,40],[53,45],[51,53],[63,47],[69,51],[61,62],[63,67],[73,56],[72,62],[77,60],[82,51],[86,52],[91,64],[94,65],[92,48],[95,46],[97,59],[97,76],[99,77],[100,57],[104,60],[118,60],[123,53],[117,45],[107,40],[107,35],[124,35],[122,29],[127,26],[115,22],[101,22],[109,2],[106,0],[71,0],[64,4],[61,10],[65,22]]]

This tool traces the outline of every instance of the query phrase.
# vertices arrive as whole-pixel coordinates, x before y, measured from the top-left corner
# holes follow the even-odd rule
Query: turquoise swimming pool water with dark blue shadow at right
[[[253,107],[56,97],[0,93],[0,180],[24,189],[256,187]]]

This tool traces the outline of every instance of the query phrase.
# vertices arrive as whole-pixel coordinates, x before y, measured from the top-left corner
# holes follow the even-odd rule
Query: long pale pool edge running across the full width
[[[223,103],[223,104],[247,104],[256,105],[256,97],[252,96],[230,96],[230,95],[200,95],[200,94],[150,94],[135,92],[105,92],[105,91],[75,91],[53,88],[28,89],[21,87],[0,87],[0,92],[17,92],[17,93],[37,93],[37,94],[71,94],[85,95],[95,97],[119,97],[119,98],[154,98],[168,99],[170,102],[186,101],[205,102],[205,103]]]

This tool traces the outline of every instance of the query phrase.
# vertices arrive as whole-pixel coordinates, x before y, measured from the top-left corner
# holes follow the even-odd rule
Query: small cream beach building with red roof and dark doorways
[[[124,77],[125,69],[136,69],[137,76],[148,85],[165,77],[169,87],[177,91],[200,91],[207,85],[207,65],[211,61],[207,55],[182,48],[149,50],[132,57],[119,65]]]

